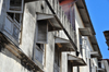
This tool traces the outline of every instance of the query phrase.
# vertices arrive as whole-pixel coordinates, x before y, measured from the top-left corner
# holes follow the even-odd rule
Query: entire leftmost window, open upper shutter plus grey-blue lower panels
[[[19,41],[24,0],[8,0],[4,31]]]

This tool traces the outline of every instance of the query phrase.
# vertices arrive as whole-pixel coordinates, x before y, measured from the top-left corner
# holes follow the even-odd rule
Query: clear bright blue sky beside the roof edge
[[[104,59],[109,59],[104,31],[109,31],[109,0],[85,0]]]

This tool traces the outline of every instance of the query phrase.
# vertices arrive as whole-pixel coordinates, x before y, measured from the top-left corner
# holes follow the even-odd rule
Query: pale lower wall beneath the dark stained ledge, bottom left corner
[[[25,68],[21,60],[9,50],[3,49],[0,52],[0,72],[32,72]]]

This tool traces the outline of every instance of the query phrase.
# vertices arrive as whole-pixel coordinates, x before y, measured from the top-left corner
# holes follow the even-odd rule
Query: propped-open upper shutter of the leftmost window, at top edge
[[[8,12],[23,13],[24,0],[8,0]]]

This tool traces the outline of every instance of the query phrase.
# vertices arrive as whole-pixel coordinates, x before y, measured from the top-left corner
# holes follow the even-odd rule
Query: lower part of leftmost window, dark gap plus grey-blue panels
[[[21,31],[22,14],[7,13],[4,29],[19,41]]]

